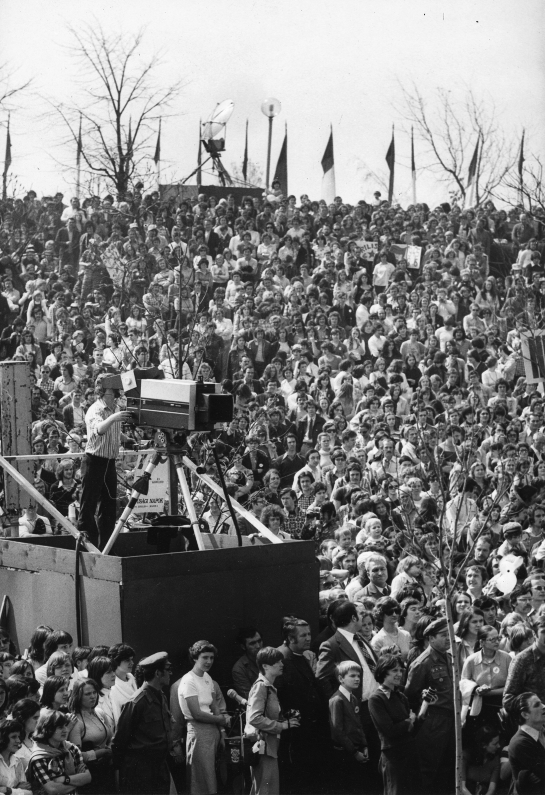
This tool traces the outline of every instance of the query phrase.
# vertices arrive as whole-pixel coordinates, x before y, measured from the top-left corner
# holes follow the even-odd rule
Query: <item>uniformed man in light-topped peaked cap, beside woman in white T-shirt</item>
[[[119,770],[122,793],[168,795],[172,718],[161,688],[170,684],[172,665],[166,651],[145,657],[139,665],[145,682],[123,704],[112,744],[114,768]],[[175,752],[180,754],[181,749]]]

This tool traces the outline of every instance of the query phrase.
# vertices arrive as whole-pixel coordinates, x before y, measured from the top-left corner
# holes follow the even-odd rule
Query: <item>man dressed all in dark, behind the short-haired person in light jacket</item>
[[[289,743],[280,744],[282,789],[286,793],[319,792],[327,774],[330,743],[327,698],[305,654],[311,646],[310,626],[303,619],[292,619],[285,626],[284,642],[284,669],[276,689],[282,708],[298,710],[301,721],[290,733]]]

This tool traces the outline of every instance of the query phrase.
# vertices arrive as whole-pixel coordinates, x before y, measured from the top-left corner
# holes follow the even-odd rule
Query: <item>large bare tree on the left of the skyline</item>
[[[124,193],[153,155],[159,118],[171,107],[182,82],[160,85],[160,56],[149,60],[139,56],[142,31],[110,35],[97,22],[69,30],[81,95],[74,104],[56,103],[56,110],[74,147],[82,120],[83,170]]]

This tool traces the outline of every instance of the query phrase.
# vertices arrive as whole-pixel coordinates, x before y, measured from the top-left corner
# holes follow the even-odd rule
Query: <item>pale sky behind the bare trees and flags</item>
[[[544,149],[543,0],[0,0],[2,62],[17,68],[21,80],[34,79],[35,93],[21,96],[11,118],[11,170],[21,189],[73,191],[56,161],[75,153],[60,151],[54,111],[44,118],[40,97],[66,101],[78,95],[66,23],[77,27],[92,21],[92,14],[106,32],[145,29],[141,55],[160,50],[160,80],[185,82],[172,107],[178,115],[163,124],[165,181],[182,180],[195,168],[199,118],[223,99],[234,101],[223,156],[227,169],[242,162],[248,118],[249,157],[265,173],[267,120],[260,108],[274,96],[282,110],[273,127],[271,170],[287,122],[290,192],[320,197],[320,161],[331,124],[337,192],[350,202],[370,199],[377,183],[364,181],[365,172],[385,176],[395,123],[395,193],[406,205],[410,138],[398,81],[414,81],[430,99],[437,87],[456,98],[470,86],[477,97],[496,103],[502,126],[514,138],[526,128],[528,153]],[[2,160],[5,122],[0,118]],[[423,165],[418,141],[416,165]],[[447,198],[446,187],[427,169],[419,170],[418,198],[431,204]]]

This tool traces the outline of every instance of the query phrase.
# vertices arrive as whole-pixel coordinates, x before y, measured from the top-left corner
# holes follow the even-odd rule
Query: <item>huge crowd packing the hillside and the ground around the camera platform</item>
[[[319,568],[319,635],[305,615],[279,616],[278,648],[241,630],[220,683],[247,701],[253,792],[450,793],[459,700],[464,795],[543,793],[545,401],[521,337],[543,326],[545,213],[142,188],[2,203],[0,359],[30,364],[34,485],[75,521],[100,375],[221,383],[227,491]],[[124,421],[122,445],[118,514],[153,429]],[[209,533],[258,534],[192,487]],[[46,514],[20,535],[63,532]],[[6,648],[0,792],[162,793],[183,766],[217,792],[237,719],[216,653],[191,646],[168,702],[166,654],[137,681],[121,643],[41,627],[28,659]]]

